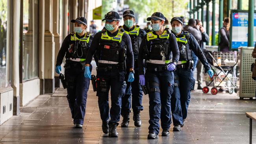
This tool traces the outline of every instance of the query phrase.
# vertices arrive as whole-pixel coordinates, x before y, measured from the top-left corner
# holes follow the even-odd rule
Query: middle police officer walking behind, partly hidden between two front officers
[[[139,53],[139,45],[143,37],[146,35],[146,32],[142,30],[139,26],[134,26],[135,16],[134,12],[131,10],[124,11],[123,13],[124,25],[119,28],[124,29],[124,33],[130,35],[132,40],[132,51],[134,52],[134,81],[132,83],[127,83],[126,94],[122,98],[122,108],[121,115],[123,117],[123,121],[121,127],[128,127],[130,122],[130,109],[131,109],[131,98],[132,98],[132,110],[134,112],[133,120],[134,125],[136,127],[141,126],[141,118],[140,111],[143,110],[142,106],[142,89],[139,85],[139,75],[138,75],[138,53]],[[129,71],[129,70],[128,70]],[[129,74],[129,73],[128,73]],[[128,76],[126,76],[126,79]]]

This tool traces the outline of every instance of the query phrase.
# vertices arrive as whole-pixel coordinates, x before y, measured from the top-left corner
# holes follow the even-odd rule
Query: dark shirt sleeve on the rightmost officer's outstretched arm
[[[180,35],[175,35],[177,38],[183,37],[185,34],[184,31],[182,31],[182,33],[180,33]],[[204,56],[204,53],[202,52],[197,40],[195,39],[195,37],[189,33],[189,39],[187,40],[188,44],[189,44],[189,48],[195,53],[195,55],[198,57],[198,59],[201,61],[201,63],[204,65],[204,68],[206,69],[206,71],[210,70],[211,67],[206,59],[206,57]]]

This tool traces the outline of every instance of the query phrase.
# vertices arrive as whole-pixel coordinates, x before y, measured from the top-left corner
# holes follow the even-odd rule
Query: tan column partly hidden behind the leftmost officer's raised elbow
[[[52,19],[52,32],[54,35],[54,43],[55,43],[55,57],[54,57],[54,66],[56,64],[57,55],[59,52],[60,44],[59,44],[59,0],[53,0],[53,19]],[[59,75],[54,71],[54,79],[55,79],[55,87],[59,87]]]

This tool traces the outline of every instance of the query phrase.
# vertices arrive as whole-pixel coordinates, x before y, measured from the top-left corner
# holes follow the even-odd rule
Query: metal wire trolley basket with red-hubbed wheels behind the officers
[[[208,93],[211,88],[211,94],[218,93],[217,88],[228,89],[228,93],[237,92],[239,78],[236,77],[237,53],[236,52],[209,52],[206,51],[206,57],[214,72],[212,78],[205,76],[206,87],[202,89],[204,93]],[[209,59],[212,59],[212,63]],[[218,65],[217,59],[221,59]]]

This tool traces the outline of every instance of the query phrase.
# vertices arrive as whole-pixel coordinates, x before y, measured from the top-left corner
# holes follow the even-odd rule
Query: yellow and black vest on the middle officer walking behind
[[[123,28],[123,26],[120,26],[119,28]],[[132,41],[132,51],[134,52],[134,59],[138,59],[139,46],[142,41],[141,37],[139,37],[139,26],[134,26],[134,30],[132,31],[124,30],[124,33],[130,36]]]

